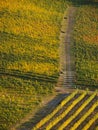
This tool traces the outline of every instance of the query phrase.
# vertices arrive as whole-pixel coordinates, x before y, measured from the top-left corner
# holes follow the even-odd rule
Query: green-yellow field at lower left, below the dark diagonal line
[[[13,123],[36,109],[41,97],[53,89],[51,83],[7,76],[2,76],[0,83],[0,130],[10,129]]]

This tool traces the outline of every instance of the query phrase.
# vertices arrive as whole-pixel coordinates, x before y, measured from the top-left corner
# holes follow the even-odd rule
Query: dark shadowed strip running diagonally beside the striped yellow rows
[[[58,94],[53,100],[48,102],[48,104],[42,106],[39,111],[35,113],[33,118],[29,121],[23,123],[17,130],[31,130],[36,123],[38,123],[43,117],[51,113],[53,109],[66,97],[68,94]]]

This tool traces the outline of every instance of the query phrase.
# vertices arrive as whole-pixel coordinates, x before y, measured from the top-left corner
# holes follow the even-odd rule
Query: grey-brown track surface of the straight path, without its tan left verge
[[[74,13],[75,7],[71,7],[69,9],[68,15],[68,28],[66,30],[66,37],[65,37],[65,56],[66,56],[66,64],[65,64],[65,71],[64,71],[64,85],[70,87],[74,81],[74,71],[73,71],[73,59],[71,56],[71,33],[73,30],[73,23],[74,23]]]

